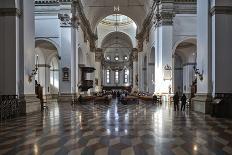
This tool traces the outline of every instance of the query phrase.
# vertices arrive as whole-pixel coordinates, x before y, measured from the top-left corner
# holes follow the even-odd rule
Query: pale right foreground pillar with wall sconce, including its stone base
[[[197,0],[197,69],[203,74],[198,76],[197,94],[193,98],[193,110],[209,113],[212,100],[212,67],[211,67],[211,18],[209,1]]]

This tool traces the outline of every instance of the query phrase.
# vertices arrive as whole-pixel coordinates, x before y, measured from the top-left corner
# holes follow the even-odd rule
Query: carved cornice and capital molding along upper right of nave
[[[143,51],[143,43],[149,41],[151,23],[155,26],[173,25],[176,14],[196,14],[197,0],[154,0],[151,11],[143,22],[141,31],[136,35],[138,51]]]

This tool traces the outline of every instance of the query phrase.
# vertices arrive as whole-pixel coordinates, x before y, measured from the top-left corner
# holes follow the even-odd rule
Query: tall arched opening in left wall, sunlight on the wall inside
[[[46,96],[58,95],[60,64],[56,43],[50,39],[37,38],[35,41],[35,54],[39,55],[39,69],[36,80],[43,87],[43,94]]]

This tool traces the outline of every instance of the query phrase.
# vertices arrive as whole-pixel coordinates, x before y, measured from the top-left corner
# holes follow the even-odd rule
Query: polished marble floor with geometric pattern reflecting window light
[[[50,103],[0,124],[1,155],[227,155],[232,120],[175,112],[168,104]]]

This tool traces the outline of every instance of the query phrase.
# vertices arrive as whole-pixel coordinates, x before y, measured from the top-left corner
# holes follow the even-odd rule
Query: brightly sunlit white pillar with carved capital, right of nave
[[[173,1],[164,1],[158,4],[156,12],[157,31],[157,59],[159,59],[158,74],[155,74],[155,90],[157,93],[169,93],[172,87],[171,66],[172,66],[172,46],[173,46]],[[156,60],[157,60],[156,59]]]

